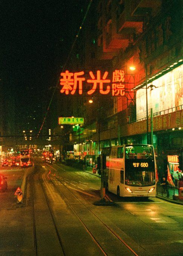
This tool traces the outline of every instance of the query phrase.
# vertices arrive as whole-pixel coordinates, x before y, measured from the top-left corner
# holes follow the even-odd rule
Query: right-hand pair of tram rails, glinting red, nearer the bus
[[[53,170],[56,170],[54,169],[53,167],[49,166],[50,169],[53,169]],[[102,251],[102,253],[104,255],[107,255],[107,252],[105,252],[105,250],[102,248],[102,245],[100,244],[100,242],[97,241],[97,239],[95,238],[95,235],[92,234],[92,232],[89,230],[89,228],[87,227],[87,225],[84,223],[84,221],[82,221],[81,217],[79,216],[79,214],[76,212],[76,210],[74,209],[74,207],[72,206],[72,204],[70,204],[68,198],[66,197],[65,194],[63,194],[63,192],[61,192],[59,189],[58,189],[58,186],[54,183],[53,179],[57,180],[58,182],[60,182],[68,191],[70,194],[72,194],[72,196],[74,196],[79,202],[81,205],[83,205],[96,219],[98,219],[98,221],[105,226],[105,228],[107,228],[107,230],[110,232],[110,234],[112,234],[115,238],[117,238],[123,245],[125,245],[126,248],[128,248],[129,250],[129,253],[131,251],[131,253],[133,255],[136,255],[138,256],[138,254],[111,228],[109,227],[107,224],[105,224],[104,221],[102,221],[101,218],[99,218],[86,204],[84,204],[84,202],[81,201],[81,199],[79,199],[78,196],[76,196],[75,193],[73,193],[72,191],[72,188],[69,187],[68,185],[66,186],[64,184],[64,182],[59,179],[57,176],[53,176],[53,178],[49,178],[49,181],[52,182],[52,184],[54,185],[54,187],[56,188],[56,190],[58,191],[58,193],[64,197],[64,200],[66,201],[67,205],[70,207],[70,209],[73,211],[73,213],[75,213],[75,215],[77,216],[77,218],[79,219],[79,221],[82,223],[82,225],[84,226],[85,230],[90,234],[91,238],[93,239],[93,241],[98,245],[98,247],[100,248],[100,250]],[[76,190],[76,189],[75,189]],[[76,190],[78,192],[81,192],[80,190]],[[88,194],[88,196],[90,196]]]

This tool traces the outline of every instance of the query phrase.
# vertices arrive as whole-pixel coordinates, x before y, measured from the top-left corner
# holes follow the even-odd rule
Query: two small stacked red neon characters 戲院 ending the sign
[[[125,85],[120,83],[125,81],[125,73],[123,70],[115,70],[113,72],[113,84],[112,84],[112,95],[113,96],[124,96],[125,95]],[[118,82],[118,83],[116,83]]]

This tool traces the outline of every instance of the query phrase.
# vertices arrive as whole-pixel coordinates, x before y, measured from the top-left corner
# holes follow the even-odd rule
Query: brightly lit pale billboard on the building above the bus
[[[183,104],[183,65],[176,67],[162,77],[149,83],[153,84],[154,89],[148,88],[148,115],[171,109]],[[146,117],[146,89],[137,90],[136,94],[136,114],[137,120]],[[178,109],[177,109],[178,110]],[[171,110],[169,111],[171,112]],[[163,115],[163,112],[161,113]]]

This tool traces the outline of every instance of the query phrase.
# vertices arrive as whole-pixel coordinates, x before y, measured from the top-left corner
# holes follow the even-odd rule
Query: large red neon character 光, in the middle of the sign
[[[90,94],[93,94],[95,92],[96,87],[97,87],[97,83],[99,83],[99,92],[101,94],[108,94],[110,92],[110,86],[109,85],[107,86],[106,90],[103,90],[103,83],[110,83],[110,79],[105,79],[108,75],[107,71],[105,71],[102,79],[101,79],[101,71],[99,71],[99,70],[97,71],[97,78],[96,79],[95,79],[95,76],[93,75],[92,71],[90,71],[89,74],[90,74],[90,77],[92,79],[88,79],[87,83],[93,83],[93,88],[91,90],[89,90],[87,92],[87,94],[90,95]]]

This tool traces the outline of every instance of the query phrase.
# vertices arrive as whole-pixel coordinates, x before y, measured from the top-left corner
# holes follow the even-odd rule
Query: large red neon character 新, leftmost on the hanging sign
[[[66,94],[69,94],[69,91],[71,91],[71,94],[75,94],[77,85],[79,86],[79,94],[82,94],[82,81],[85,80],[84,77],[78,77],[79,75],[83,75],[84,72],[75,72],[75,73],[69,73],[68,70],[66,72],[62,72],[60,75],[63,76],[63,78],[60,79],[60,85],[63,85],[63,88],[60,90],[61,93],[65,92]],[[72,78],[74,75],[74,78]],[[73,87],[72,87],[73,86]]]

